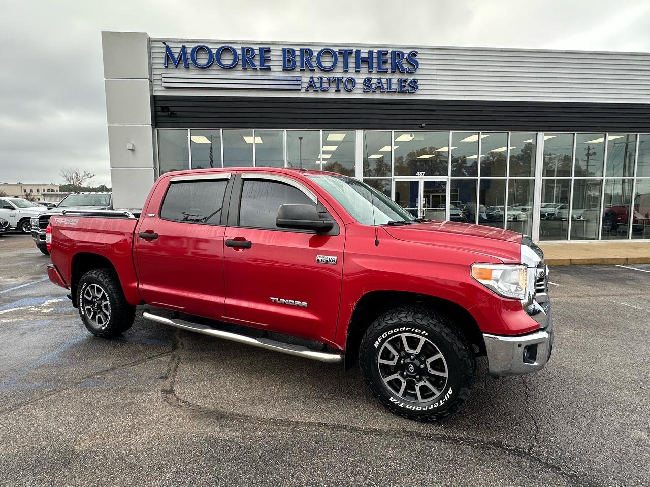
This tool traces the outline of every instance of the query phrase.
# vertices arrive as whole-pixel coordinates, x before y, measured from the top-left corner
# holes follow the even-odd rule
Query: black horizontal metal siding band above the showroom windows
[[[650,132],[650,105],[156,96],[158,128]],[[162,112],[168,106],[172,116]]]

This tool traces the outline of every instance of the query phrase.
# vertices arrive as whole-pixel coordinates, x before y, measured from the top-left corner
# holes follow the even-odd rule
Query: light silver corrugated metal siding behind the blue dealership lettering
[[[218,68],[164,68],[164,45],[167,42],[174,53],[185,44],[205,44],[213,51],[221,45],[231,45],[240,51],[242,46],[270,47],[272,66],[270,70],[244,71],[239,65],[233,69]],[[420,68],[415,73],[366,73],[344,72],[342,62],[332,71],[291,71],[281,69],[281,47],[309,47],[318,51],[322,47],[333,49],[382,49],[382,45],[344,45],[322,43],[289,42],[241,42],[189,39],[151,39],[151,62],[153,67],[153,90],[155,95],[210,95],[233,97],[268,96],[268,90],[229,88],[164,88],[162,73],[184,73],[202,77],[218,75],[235,79],[245,75],[256,79],[268,75],[302,76],[304,90],[311,75],[352,76],[357,80],[353,92],[287,92],[278,90],[274,95],[300,99],[372,99],[386,100],[471,100],[471,101],[545,101],[582,103],[650,103],[650,54],[612,53],[584,51],[542,51],[533,49],[481,49],[463,47],[392,46],[385,49],[419,51],[417,60]],[[189,55],[189,52],[188,52]],[[259,56],[259,53],[257,53]],[[354,57],[354,56],[352,56]],[[257,60],[257,58],[255,58]],[[180,66],[180,65],[179,65]],[[363,65],[365,66],[365,64]],[[419,79],[416,93],[371,93],[361,92],[363,77],[386,78],[411,77]],[[234,80],[233,80],[234,81]],[[191,86],[191,85],[190,85]]]

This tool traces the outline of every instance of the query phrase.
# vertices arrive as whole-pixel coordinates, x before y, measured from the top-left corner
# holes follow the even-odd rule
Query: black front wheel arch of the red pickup
[[[345,340],[345,369],[349,370],[359,358],[359,345],[363,334],[372,322],[383,313],[403,305],[422,305],[431,310],[441,312],[454,318],[454,323],[460,327],[467,341],[478,347],[479,353],[485,353],[483,334],[476,319],[463,306],[428,294],[408,291],[370,291],[365,293],[352,312]]]

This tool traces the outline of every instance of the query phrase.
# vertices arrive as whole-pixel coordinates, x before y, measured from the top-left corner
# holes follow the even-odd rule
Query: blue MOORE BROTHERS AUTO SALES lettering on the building
[[[241,46],[239,49],[231,45],[222,45],[213,51],[209,46],[198,44],[189,51],[187,46],[181,45],[177,53],[174,49],[165,44],[162,66],[170,68],[189,68],[190,62],[200,69],[207,69],[216,64],[222,69],[233,69],[240,66],[241,69],[272,69],[271,47]],[[336,68],[342,69],[344,73],[354,69],[367,71],[368,73],[415,73],[420,67],[417,60],[418,51],[388,49],[333,49],[324,47],[317,53],[309,47],[301,47],[296,53],[292,47],[281,47],[283,71],[333,71]],[[297,57],[296,57],[297,55]],[[352,57],[352,59],[351,59]],[[354,66],[352,66],[354,64]],[[365,68],[365,69],[362,69]],[[399,74],[398,74],[399,76]],[[408,76],[408,75],[407,75]],[[419,79],[408,77],[372,77],[362,79],[348,76],[310,76],[306,84],[303,84],[305,92],[327,92],[330,87],[334,92],[353,92],[357,88],[357,81],[361,84],[361,92],[364,93],[415,93],[419,90]],[[164,82],[164,79],[163,79]],[[304,79],[302,81],[304,83]],[[282,85],[285,89],[300,90],[301,77],[278,77],[278,80],[268,85],[268,89],[278,89]]]

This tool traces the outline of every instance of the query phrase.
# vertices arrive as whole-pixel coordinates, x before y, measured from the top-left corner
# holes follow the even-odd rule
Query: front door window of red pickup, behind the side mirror
[[[280,205],[301,203],[313,205],[303,192],[276,181],[244,180],[239,209],[239,225],[258,229],[278,229],[276,218]]]

